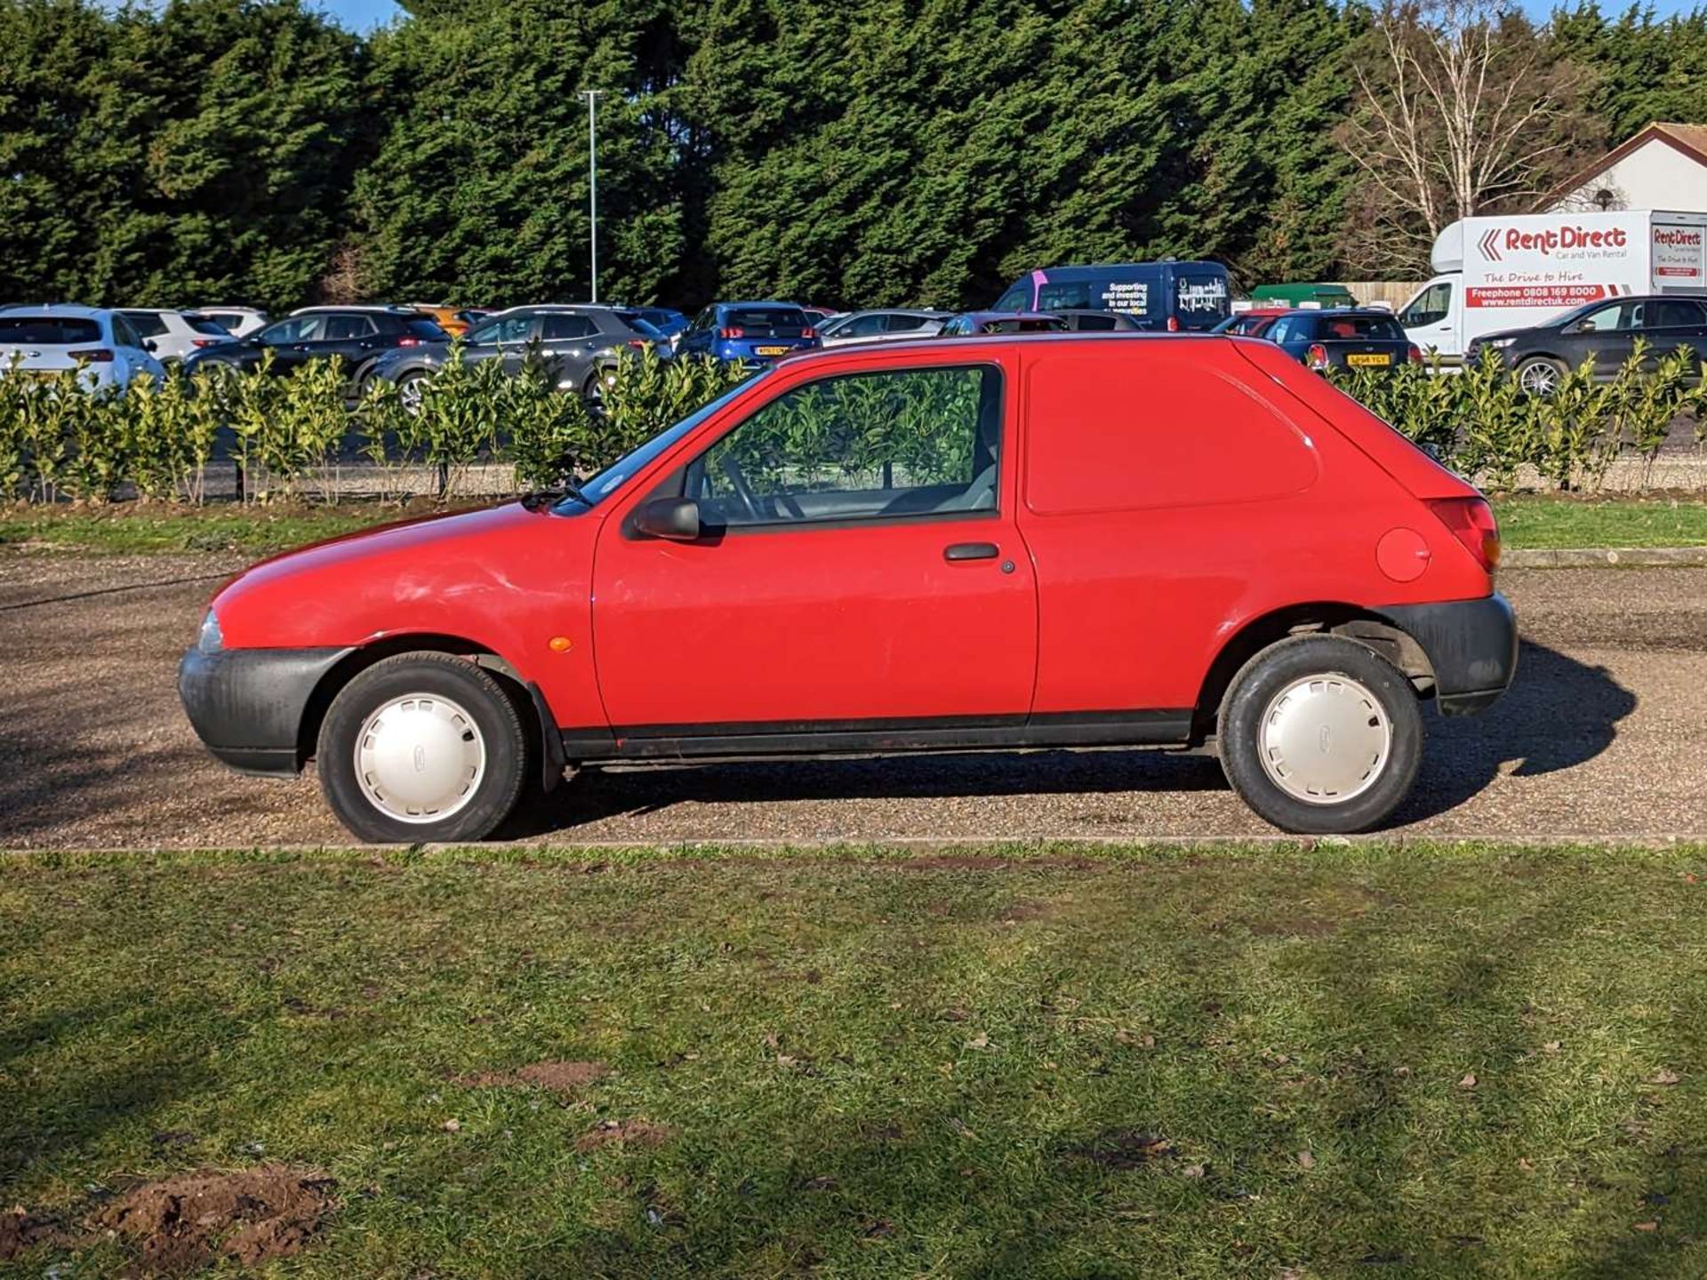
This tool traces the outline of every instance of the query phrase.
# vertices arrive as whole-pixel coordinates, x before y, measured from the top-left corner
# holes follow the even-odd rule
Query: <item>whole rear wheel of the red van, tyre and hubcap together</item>
[[[1270,645],[1221,707],[1221,766],[1263,819],[1301,835],[1381,824],[1422,759],[1410,681],[1367,645],[1308,635]]]

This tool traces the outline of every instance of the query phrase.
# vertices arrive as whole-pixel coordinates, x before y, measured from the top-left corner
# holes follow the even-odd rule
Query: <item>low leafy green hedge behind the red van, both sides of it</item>
[[[1697,439],[1707,435],[1707,386],[1697,372],[1687,352],[1652,362],[1639,343],[1615,379],[1594,382],[1584,364],[1547,398],[1526,396],[1492,353],[1456,375],[1407,365],[1337,374],[1335,382],[1489,488],[1512,488],[1533,468],[1545,483],[1582,490],[1598,486],[1618,457],[1640,459],[1646,485],[1680,415],[1695,418]],[[712,360],[625,357],[594,413],[580,396],[556,391],[538,360],[514,377],[497,360],[452,360],[410,415],[381,381],[352,406],[336,364],[290,377],[172,372],[157,387],[104,396],[84,393],[72,372],[14,374],[0,377],[0,500],[108,502],[131,485],[145,500],[201,502],[220,428],[230,430],[232,461],[249,478],[248,500],[265,497],[256,478],[295,492],[329,478],[352,452],[374,464],[372,488],[387,497],[403,492],[405,471],[420,468],[432,471],[440,497],[454,495],[476,463],[512,464],[516,488],[550,488],[601,468],[743,377]],[[818,430],[818,416],[804,413],[811,422],[797,430]]]

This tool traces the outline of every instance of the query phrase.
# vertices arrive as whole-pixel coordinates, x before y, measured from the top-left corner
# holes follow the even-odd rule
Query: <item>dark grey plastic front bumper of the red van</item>
[[[239,773],[300,771],[302,717],[321,679],[350,649],[191,649],[178,696],[213,758]]]

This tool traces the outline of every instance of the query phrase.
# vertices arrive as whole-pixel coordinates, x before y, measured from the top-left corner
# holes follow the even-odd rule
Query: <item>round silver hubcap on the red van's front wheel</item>
[[[355,739],[367,802],[403,823],[437,823],[466,806],[486,775],[486,742],[449,698],[411,693],[372,712]]]

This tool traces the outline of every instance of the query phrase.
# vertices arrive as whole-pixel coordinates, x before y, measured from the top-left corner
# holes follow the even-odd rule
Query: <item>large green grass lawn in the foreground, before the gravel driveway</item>
[[[0,1275],[275,1161],[294,1277],[1702,1275],[1704,939],[1707,848],[12,855]]]

